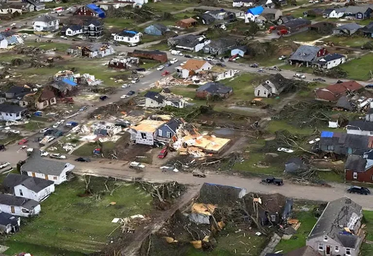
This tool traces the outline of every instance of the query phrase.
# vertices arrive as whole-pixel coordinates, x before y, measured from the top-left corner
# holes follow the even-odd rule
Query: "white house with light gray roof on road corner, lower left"
[[[44,159],[40,156],[40,150],[34,149],[33,153],[21,166],[21,174],[37,178],[51,180],[55,185],[67,181],[67,173],[74,169],[74,165],[67,162],[59,162]]]

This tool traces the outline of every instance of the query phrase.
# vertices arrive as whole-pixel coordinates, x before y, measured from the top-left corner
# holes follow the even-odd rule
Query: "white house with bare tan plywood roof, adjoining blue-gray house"
[[[137,144],[153,145],[158,128],[166,123],[166,121],[142,120],[136,126],[131,126],[128,132],[132,135],[131,140],[135,140]]]

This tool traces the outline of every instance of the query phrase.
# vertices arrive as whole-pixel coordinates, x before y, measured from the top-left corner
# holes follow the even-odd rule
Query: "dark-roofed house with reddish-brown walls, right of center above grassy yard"
[[[208,82],[196,89],[196,98],[199,99],[214,99],[228,98],[233,94],[233,88],[225,86],[220,82]]]

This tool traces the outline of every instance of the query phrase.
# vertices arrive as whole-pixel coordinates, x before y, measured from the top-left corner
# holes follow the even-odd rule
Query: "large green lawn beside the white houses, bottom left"
[[[146,214],[151,209],[151,197],[132,184],[107,182],[109,190],[119,186],[113,195],[105,191],[106,178],[91,177],[93,193],[100,196],[79,196],[85,190],[82,177],[58,185],[56,191],[41,203],[41,213],[20,231],[2,237],[1,244],[10,246],[6,255],[29,252],[36,256],[81,256],[101,250],[110,239],[109,234],[118,226],[113,218]],[[111,202],[115,204],[111,205]],[[113,234],[119,234],[120,229]]]

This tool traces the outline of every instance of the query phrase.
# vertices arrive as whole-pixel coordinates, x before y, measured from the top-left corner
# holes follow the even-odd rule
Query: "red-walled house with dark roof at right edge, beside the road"
[[[349,155],[344,165],[346,180],[373,183],[373,159],[371,153],[366,152],[363,156]]]

